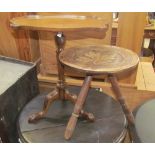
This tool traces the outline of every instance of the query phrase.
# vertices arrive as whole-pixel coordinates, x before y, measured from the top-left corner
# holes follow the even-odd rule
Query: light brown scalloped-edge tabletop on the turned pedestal
[[[75,31],[81,29],[107,29],[107,22],[101,17],[77,15],[41,16],[28,15],[10,21],[13,27],[29,30]]]

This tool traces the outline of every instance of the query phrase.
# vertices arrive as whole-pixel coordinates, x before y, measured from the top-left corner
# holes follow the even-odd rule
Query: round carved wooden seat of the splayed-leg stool
[[[65,66],[91,74],[122,72],[134,68],[139,61],[131,50],[108,45],[69,48],[59,58]]]

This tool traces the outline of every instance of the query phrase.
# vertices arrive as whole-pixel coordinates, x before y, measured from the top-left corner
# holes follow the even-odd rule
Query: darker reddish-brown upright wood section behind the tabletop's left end
[[[14,17],[33,15],[32,12],[10,13],[10,19]],[[36,61],[40,57],[39,37],[37,31],[13,30],[14,39],[18,48],[20,59],[25,61]]]

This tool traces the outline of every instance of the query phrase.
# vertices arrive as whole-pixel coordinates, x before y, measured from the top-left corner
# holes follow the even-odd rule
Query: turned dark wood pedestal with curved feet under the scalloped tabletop
[[[62,32],[58,32],[55,35],[55,43],[57,45],[56,59],[57,59],[57,66],[58,66],[57,88],[54,91],[47,94],[47,96],[45,97],[45,100],[44,100],[43,110],[40,112],[37,112],[35,114],[32,114],[28,119],[29,123],[34,123],[34,122],[40,120],[41,118],[43,118],[46,115],[51,104],[55,100],[58,100],[58,99],[60,99],[62,101],[70,100],[72,103],[75,103],[76,99],[77,99],[76,95],[69,93],[69,91],[67,91],[65,88],[66,84],[65,84],[65,77],[64,77],[64,66],[63,66],[63,64],[61,64],[61,62],[59,60],[59,54],[63,51],[63,48],[65,46],[65,36],[63,35]],[[94,120],[94,117],[91,113],[84,112],[83,110],[81,110],[80,116],[85,119],[88,119],[90,121]]]

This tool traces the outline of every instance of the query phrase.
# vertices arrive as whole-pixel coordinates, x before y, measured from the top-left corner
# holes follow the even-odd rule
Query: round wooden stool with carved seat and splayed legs
[[[108,75],[114,93],[127,117],[130,136],[133,138],[131,130],[134,126],[134,119],[121,94],[115,74],[134,68],[138,64],[138,56],[132,51],[120,47],[88,46],[74,47],[65,50],[60,53],[59,58],[64,66],[86,74],[74,111],[66,128],[66,139],[69,139],[72,136],[80,110],[83,108],[92,76],[99,74]]]

